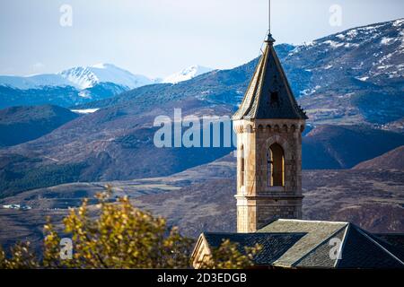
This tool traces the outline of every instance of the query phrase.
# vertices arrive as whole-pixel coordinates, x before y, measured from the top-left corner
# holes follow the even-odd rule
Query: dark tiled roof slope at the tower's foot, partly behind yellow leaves
[[[259,244],[262,249],[254,257],[256,265],[271,265],[286,250],[291,248],[304,233],[203,233],[211,248],[218,248],[225,239],[238,243],[239,251],[244,253],[244,247],[254,247]]]

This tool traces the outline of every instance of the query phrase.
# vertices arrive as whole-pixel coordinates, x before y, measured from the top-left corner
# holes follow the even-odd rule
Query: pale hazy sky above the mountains
[[[60,25],[63,4],[72,26]],[[329,23],[333,4],[340,26]],[[401,17],[402,0],[272,0],[277,43]],[[97,63],[154,77],[194,64],[231,68],[259,56],[267,29],[268,0],[0,0],[0,74]]]

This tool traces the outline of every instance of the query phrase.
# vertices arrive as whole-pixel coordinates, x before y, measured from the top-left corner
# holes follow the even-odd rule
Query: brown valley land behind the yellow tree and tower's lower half
[[[0,230],[0,244],[30,239],[40,248],[47,216],[61,229],[69,207],[79,206],[83,197],[95,204],[93,196],[106,185],[113,189],[112,198],[128,196],[136,207],[166,217],[189,237],[198,237],[202,230],[234,231],[235,170],[231,153],[169,177],[71,183],[5,197],[1,205],[32,209],[0,208],[0,225],[7,226]],[[349,221],[373,232],[404,232],[403,190],[404,170],[303,170],[303,218]]]

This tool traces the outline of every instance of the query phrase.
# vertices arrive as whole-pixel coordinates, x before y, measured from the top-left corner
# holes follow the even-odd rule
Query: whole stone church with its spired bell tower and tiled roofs
[[[191,256],[198,268],[225,240],[261,246],[266,268],[403,268],[404,237],[372,234],[350,222],[302,220],[302,132],[294,99],[268,33],[240,108],[237,134],[237,232],[204,232]],[[336,250],[337,248],[337,250]]]

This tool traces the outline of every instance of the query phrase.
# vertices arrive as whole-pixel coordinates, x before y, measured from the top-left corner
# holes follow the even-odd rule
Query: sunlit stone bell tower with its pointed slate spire
[[[242,104],[237,134],[237,231],[277,218],[302,218],[302,132],[307,119],[294,99],[268,33]]]

